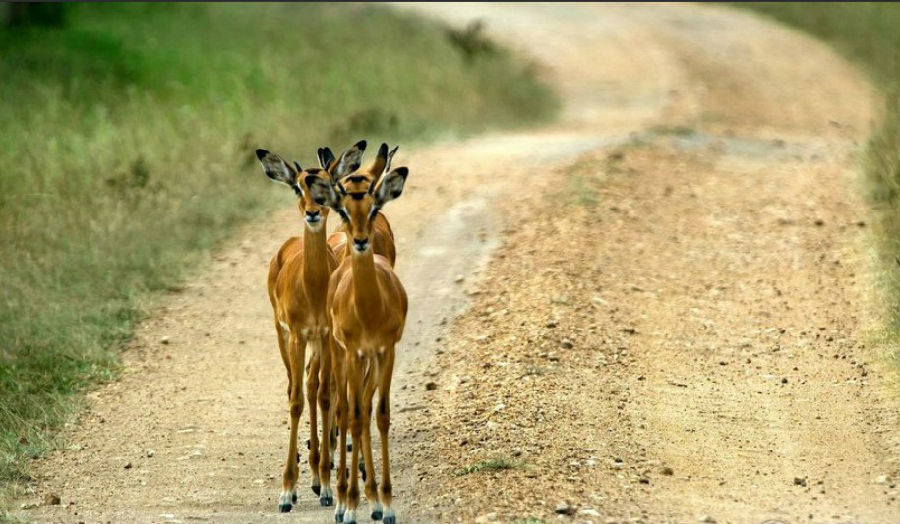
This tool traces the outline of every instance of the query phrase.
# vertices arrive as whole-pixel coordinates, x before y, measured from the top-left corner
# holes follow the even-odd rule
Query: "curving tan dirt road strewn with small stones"
[[[395,160],[398,518],[900,520],[897,378],[866,339],[862,75],[723,7],[405,8],[484,19],[565,108]],[[277,513],[263,283],[286,208],[140,327],[68,449],[35,461],[25,518],[331,521],[311,491]]]

